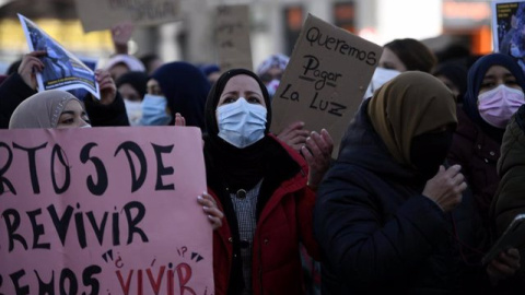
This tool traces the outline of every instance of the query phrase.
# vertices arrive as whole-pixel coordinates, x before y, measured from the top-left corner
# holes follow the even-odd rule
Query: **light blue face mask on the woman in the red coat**
[[[249,104],[244,97],[217,108],[219,137],[228,143],[244,149],[265,137],[266,114],[264,106]]]

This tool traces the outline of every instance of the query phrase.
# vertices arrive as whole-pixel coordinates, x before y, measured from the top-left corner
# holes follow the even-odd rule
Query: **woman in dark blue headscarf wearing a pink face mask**
[[[502,137],[511,116],[525,103],[524,88],[525,76],[516,62],[508,55],[490,54],[471,66],[464,105],[457,110],[458,127],[447,158],[462,165],[487,229]]]

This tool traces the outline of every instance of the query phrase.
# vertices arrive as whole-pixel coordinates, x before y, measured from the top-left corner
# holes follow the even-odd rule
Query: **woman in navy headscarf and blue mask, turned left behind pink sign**
[[[183,61],[165,63],[153,72],[147,86],[140,125],[174,125],[178,113],[187,126],[205,130],[205,104],[210,83],[201,70]]]

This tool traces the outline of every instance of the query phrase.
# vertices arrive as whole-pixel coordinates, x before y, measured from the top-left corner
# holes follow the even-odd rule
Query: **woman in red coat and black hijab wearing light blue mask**
[[[313,132],[303,158],[269,133],[270,122],[268,92],[255,73],[219,78],[205,137],[209,191],[226,216],[213,243],[215,294],[303,294],[300,241],[317,257],[313,189],[328,168],[331,138]]]

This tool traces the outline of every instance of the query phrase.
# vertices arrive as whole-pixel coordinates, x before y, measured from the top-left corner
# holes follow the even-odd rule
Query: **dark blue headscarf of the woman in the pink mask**
[[[479,115],[478,95],[485,74],[492,66],[506,68],[515,78],[516,83],[525,91],[525,76],[514,59],[503,54],[490,54],[479,58],[469,69],[467,76],[467,92],[463,99],[463,110],[467,116],[492,139],[501,143],[505,129],[495,128],[487,123]]]

